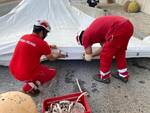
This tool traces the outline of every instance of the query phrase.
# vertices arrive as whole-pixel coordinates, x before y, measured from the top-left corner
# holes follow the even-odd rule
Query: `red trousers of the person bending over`
[[[127,21],[122,26],[108,33],[107,40],[100,53],[100,71],[102,73],[109,73],[112,64],[112,58],[115,57],[118,70],[127,68],[126,63],[126,49],[130,37],[133,34],[133,26]],[[111,36],[110,36],[111,35]]]

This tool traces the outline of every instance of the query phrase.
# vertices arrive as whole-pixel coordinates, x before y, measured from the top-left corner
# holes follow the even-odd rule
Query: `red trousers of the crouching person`
[[[26,76],[25,78],[24,75],[19,75],[19,77],[15,77],[16,79],[24,82],[35,82],[35,81],[40,81],[41,84],[44,84],[56,75],[56,69],[49,68],[45,65],[40,65],[40,67],[37,69],[36,72],[30,74],[30,76]]]

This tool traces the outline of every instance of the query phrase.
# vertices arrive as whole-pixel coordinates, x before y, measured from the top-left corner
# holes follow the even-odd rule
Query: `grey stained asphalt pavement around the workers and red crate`
[[[2,7],[1,7],[2,6]],[[16,6],[16,2],[3,7],[3,14]],[[5,12],[6,11],[6,12]],[[1,15],[3,15],[1,14]],[[98,73],[99,60],[85,62],[71,61],[45,61],[45,65],[57,69],[57,76],[52,84],[41,88],[41,94],[33,97],[37,107],[41,109],[42,101],[53,96],[78,92],[75,79],[78,78],[81,88],[89,93],[87,97],[92,113],[149,113],[150,111],[150,59],[127,59],[130,80],[123,83],[111,78],[109,85],[93,80],[92,76]],[[115,72],[115,61],[112,71]],[[16,81],[9,73],[8,67],[0,66],[0,93],[21,90],[22,83]]]

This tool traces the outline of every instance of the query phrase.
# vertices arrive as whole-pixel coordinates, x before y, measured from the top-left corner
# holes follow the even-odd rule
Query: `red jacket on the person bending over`
[[[123,25],[127,22],[129,22],[128,19],[120,16],[104,16],[95,19],[83,33],[84,48],[92,46],[94,43],[105,43],[111,40],[112,37],[119,36],[123,41],[122,32],[128,30],[123,28]],[[133,33],[133,30],[131,32]]]

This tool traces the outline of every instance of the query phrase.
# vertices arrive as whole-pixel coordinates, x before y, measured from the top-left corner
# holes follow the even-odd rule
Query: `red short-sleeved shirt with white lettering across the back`
[[[47,51],[45,52],[45,50]],[[10,63],[10,70],[18,77],[19,75],[30,76],[40,66],[41,55],[49,53],[50,48],[44,40],[34,34],[24,35],[16,46]]]

